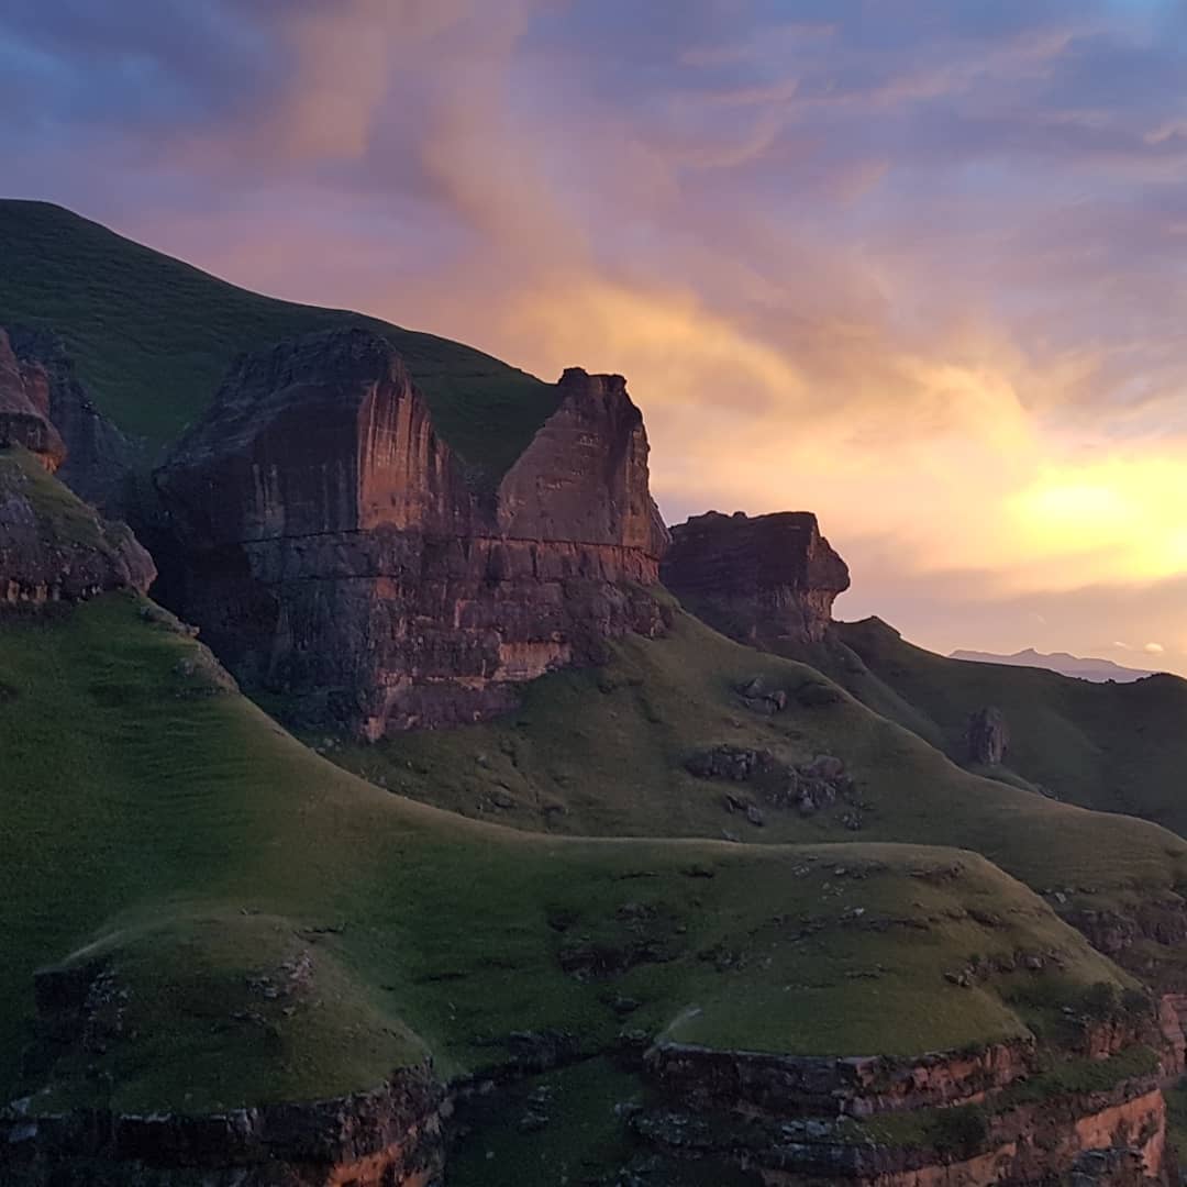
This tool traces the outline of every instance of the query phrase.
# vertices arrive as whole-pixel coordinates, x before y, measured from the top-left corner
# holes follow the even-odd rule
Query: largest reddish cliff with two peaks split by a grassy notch
[[[667,533],[618,376],[566,372],[480,494],[385,339],[309,335],[241,361],[157,483],[182,612],[242,680],[367,737],[480,721],[664,629]]]

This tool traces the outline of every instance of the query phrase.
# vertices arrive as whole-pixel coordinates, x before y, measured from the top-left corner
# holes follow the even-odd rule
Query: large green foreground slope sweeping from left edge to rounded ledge
[[[133,1109],[324,1096],[426,1048],[453,1072],[514,1029],[594,1046],[618,995],[631,1027],[688,1041],[904,1054],[1020,1030],[1010,978],[945,979],[975,953],[1060,952],[1054,1002],[1122,979],[972,853],[561,839],[392,795],[211,693],[183,662],[198,645],[140,611],[0,620],[0,1094],[31,973],[70,953],[106,952],[128,996],[53,1099]],[[1156,830],[1145,845],[1135,869],[1163,869]],[[665,961],[605,982],[559,964],[643,942]],[[303,953],[309,983],[261,996]]]

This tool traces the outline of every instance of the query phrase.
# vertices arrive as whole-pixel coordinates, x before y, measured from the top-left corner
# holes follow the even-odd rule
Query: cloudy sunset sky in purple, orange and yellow
[[[7,196],[624,374],[842,617],[1187,674],[1182,0],[5,0],[0,109]]]

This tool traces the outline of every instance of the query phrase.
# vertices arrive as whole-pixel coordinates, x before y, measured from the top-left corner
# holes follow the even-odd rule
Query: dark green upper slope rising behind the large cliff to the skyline
[[[146,440],[150,463],[239,353],[337,324],[388,337],[438,431],[488,474],[506,470],[556,407],[553,386],[470,347],[258,296],[49,203],[0,199],[0,325],[61,334],[100,411]]]

